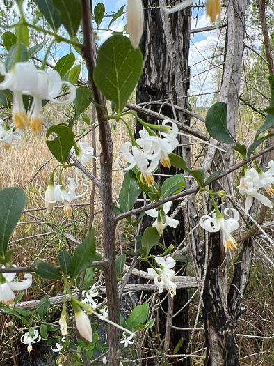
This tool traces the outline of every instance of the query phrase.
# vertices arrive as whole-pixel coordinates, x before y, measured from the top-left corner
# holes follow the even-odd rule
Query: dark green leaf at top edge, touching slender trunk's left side
[[[81,0],[53,0],[53,4],[59,11],[61,23],[65,26],[67,33],[74,38],[81,22]]]

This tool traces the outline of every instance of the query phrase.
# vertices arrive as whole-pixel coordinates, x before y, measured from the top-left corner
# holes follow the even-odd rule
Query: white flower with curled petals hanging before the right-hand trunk
[[[221,231],[223,234],[223,246],[225,247],[225,252],[227,249],[234,250],[237,247],[236,241],[231,235],[231,233],[237,229],[239,229],[239,212],[235,210],[235,208],[225,208],[224,213],[227,214],[227,211],[232,211],[233,218],[228,218],[225,220],[223,216],[218,212],[218,217],[216,213],[213,213],[212,217],[210,215],[203,215],[200,218],[200,226],[207,230],[209,233],[216,233],[217,231]]]

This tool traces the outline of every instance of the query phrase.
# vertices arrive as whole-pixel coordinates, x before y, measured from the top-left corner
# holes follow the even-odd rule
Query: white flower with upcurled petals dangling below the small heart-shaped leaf
[[[40,196],[42,197],[42,199],[44,199],[45,204],[55,204],[58,201],[62,201],[64,203],[64,213],[66,216],[70,216],[72,214],[72,208],[70,207],[69,202],[73,201],[74,199],[83,197],[83,195],[86,195],[86,192],[88,192],[88,185],[86,185],[85,183],[83,183],[83,185],[86,187],[85,192],[83,192],[81,195],[76,196],[75,190],[76,190],[76,184],[74,181],[74,178],[68,178],[68,180],[70,181],[70,185],[69,185],[69,190],[65,190],[64,186],[61,184],[57,184],[54,187],[54,199],[53,200],[48,200],[46,195],[45,198],[42,197],[42,193],[41,193],[41,186],[39,188],[39,193]],[[50,198],[52,198],[52,188],[49,189],[49,191],[47,192],[47,194],[49,195]]]

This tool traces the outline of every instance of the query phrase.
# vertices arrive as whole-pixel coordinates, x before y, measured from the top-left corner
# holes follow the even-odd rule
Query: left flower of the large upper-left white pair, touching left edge
[[[0,90],[13,91],[13,123],[15,128],[23,129],[28,125],[23,94],[29,94],[29,88],[37,82],[37,69],[30,62],[18,62],[6,72],[5,65],[0,61],[0,73],[5,77],[0,83]]]

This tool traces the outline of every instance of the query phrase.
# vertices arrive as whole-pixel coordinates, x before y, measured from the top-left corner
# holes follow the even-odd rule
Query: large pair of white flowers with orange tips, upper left
[[[13,68],[6,71],[5,64],[0,61],[0,73],[4,76],[0,90],[9,89],[13,92],[13,126],[23,130],[30,126],[33,132],[42,129],[42,101],[50,100],[58,104],[70,104],[76,98],[76,89],[70,82],[64,82],[56,70],[38,70],[31,62],[15,63]],[[70,88],[67,100],[56,100],[60,96],[63,84]],[[28,114],[24,107],[23,94],[32,96]]]

